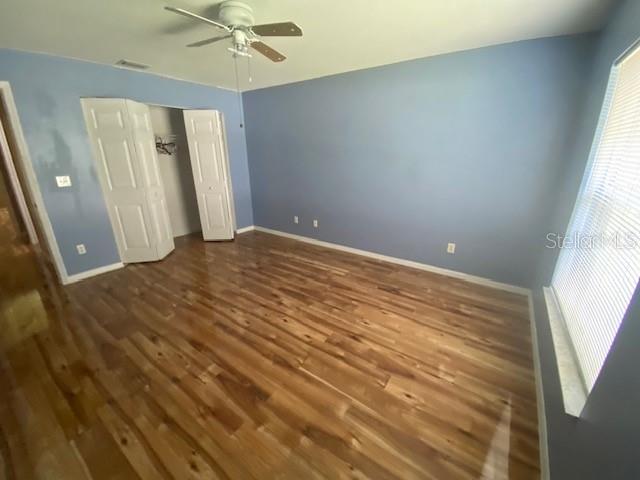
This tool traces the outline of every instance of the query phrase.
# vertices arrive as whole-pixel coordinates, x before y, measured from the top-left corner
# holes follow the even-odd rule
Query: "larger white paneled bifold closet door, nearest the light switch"
[[[149,108],[118,98],[82,100],[96,169],[124,263],[174,249]]]

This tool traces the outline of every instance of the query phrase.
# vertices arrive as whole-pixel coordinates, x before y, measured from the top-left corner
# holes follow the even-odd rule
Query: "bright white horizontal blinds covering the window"
[[[640,276],[640,49],[612,69],[551,282],[587,391]]]

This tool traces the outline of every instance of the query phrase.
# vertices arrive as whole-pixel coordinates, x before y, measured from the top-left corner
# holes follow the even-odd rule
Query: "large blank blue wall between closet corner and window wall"
[[[530,286],[593,46],[532,40],[245,93],[255,223]]]

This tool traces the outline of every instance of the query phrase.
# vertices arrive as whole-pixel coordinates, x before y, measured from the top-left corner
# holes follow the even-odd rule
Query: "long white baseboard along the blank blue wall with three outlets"
[[[426,263],[414,262],[412,260],[405,260],[404,258],[390,257],[388,255],[382,255],[380,253],[370,252],[368,250],[360,250],[359,248],[346,247],[337,243],[324,242],[322,240],[316,240],[315,238],[303,237],[301,235],[294,235],[293,233],[281,232],[280,230],[272,230],[270,228],[260,227],[255,225],[254,230],[264,233],[270,233],[272,235],[278,235],[281,237],[292,238],[300,242],[310,243],[312,245],[318,245],[325,248],[333,248],[334,250],[341,250],[343,252],[353,253],[355,255],[362,255],[364,257],[375,258],[376,260],[382,260],[383,262],[395,263],[397,265],[403,265],[405,267],[416,268],[418,270],[425,270],[427,272],[438,273],[440,275],[446,275],[448,277],[458,278],[471,283],[484,285],[486,287],[497,288],[499,290],[505,290],[507,292],[518,293],[520,295],[529,295],[531,290],[524,287],[518,287],[515,285],[509,285],[508,283],[496,282],[484,277],[478,277],[476,275],[469,275],[467,273],[458,272],[455,270],[449,270],[447,268],[436,267]]]

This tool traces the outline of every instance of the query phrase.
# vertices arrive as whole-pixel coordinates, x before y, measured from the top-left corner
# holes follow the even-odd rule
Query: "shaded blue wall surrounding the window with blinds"
[[[640,0],[620,2],[596,39],[588,89],[576,123],[570,153],[563,159],[549,231],[564,232],[588,160],[611,66],[640,38]],[[540,258],[538,285],[548,285],[556,251]],[[564,413],[556,357],[542,292],[534,291],[534,310],[552,479],[626,480],[640,478],[640,284],[622,321],[603,369],[580,419]]]

